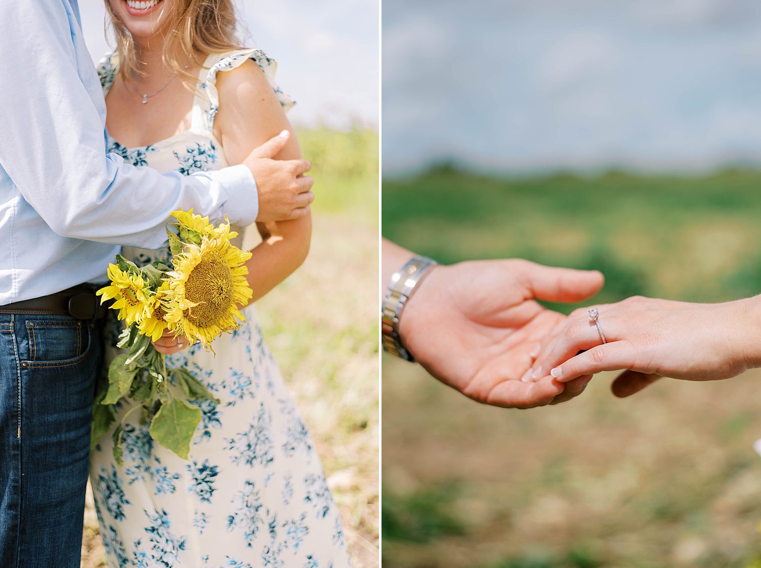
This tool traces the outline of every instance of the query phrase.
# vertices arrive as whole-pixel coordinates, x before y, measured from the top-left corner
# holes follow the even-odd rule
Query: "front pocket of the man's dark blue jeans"
[[[27,320],[30,367],[62,367],[81,360],[90,347],[90,328],[76,319]]]

